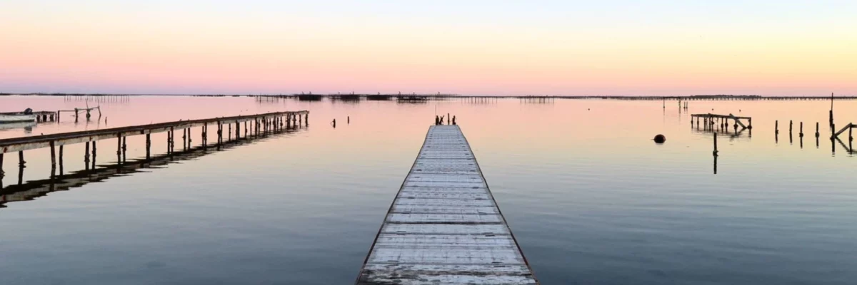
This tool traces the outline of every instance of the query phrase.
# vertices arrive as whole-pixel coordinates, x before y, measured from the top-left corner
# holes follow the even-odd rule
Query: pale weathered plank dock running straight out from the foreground
[[[458,126],[428,129],[357,284],[538,284]]]

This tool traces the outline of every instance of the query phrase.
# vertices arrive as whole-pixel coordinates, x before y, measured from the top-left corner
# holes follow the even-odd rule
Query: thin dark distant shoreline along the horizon
[[[374,99],[399,98],[405,100],[432,98],[513,98],[513,99],[606,99],[606,100],[828,100],[827,96],[762,96],[762,95],[459,95],[459,94],[107,94],[107,93],[0,93],[0,96],[63,96],[63,97],[110,97],[110,96],[191,96],[191,97],[257,97],[257,98],[334,98]],[[834,96],[833,99],[854,100],[857,96]]]

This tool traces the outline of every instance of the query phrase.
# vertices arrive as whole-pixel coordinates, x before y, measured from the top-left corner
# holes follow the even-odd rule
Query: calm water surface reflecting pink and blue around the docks
[[[602,100],[129,97],[88,104],[102,107],[99,122],[63,116],[0,130],[0,138],[311,113],[309,126],[294,132],[160,159],[153,168],[78,175],[66,179],[75,187],[60,189],[68,191],[45,190],[49,151],[25,152],[20,186],[17,157],[6,155],[0,284],[352,283],[428,125],[446,113],[457,117],[543,284],[857,280],[857,157],[824,139],[829,102],[693,101],[682,113],[676,102],[664,109],[656,101]],[[0,97],[0,111],[86,105]],[[716,162],[712,134],[690,126],[689,113],[708,112],[753,117],[752,134],[722,134]],[[854,114],[857,101],[836,102],[837,125],[857,122]],[[822,125],[818,146],[815,122]],[[654,144],[655,134],[667,143]],[[145,155],[144,140],[128,139],[129,159]],[[153,135],[154,153],[165,152],[165,140]],[[99,142],[100,167],[114,164],[115,153],[115,140]],[[65,174],[84,169],[82,144],[65,147],[63,166]]]

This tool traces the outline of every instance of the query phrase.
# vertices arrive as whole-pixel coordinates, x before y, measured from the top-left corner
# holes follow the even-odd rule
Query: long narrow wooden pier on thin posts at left
[[[117,140],[117,157],[119,161],[123,161],[124,152],[126,150],[125,141],[127,137],[134,135],[146,135],[146,157],[151,157],[151,134],[167,133],[167,153],[170,154],[175,150],[176,131],[182,131],[181,140],[183,148],[189,149],[191,139],[191,128],[201,128],[201,144],[208,145],[208,126],[214,125],[217,127],[217,142],[215,145],[221,145],[224,142],[224,128],[229,128],[227,140],[232,137],[232,125],[235,126],[235,139],[241,137],[266,134],[275,132],[281,129],[295,128],[300,125],[309,125],[309,111],[287,111],[273,112],[247,116],[227,116],[211,119],[177,121],[177,122],[159,122],[148,125],[120,127],[120,128],[102,128],[89,131],[70,132],[61,134],[44,134],[22,138],[12,138],[0,140],[0,177],[3,176],[3,155],[9,152],[18,152],[18,167],[24,168],[26,161],[24,160],[24,151],[50,147],[51,148],[51,175],[53,169],[57,167],[57,151],[59,148],[59,160],[63,161],[63,145],[71,145],[78,143],[86,144],[86,153],[84,154],[84,162],[89,162],[89,145],[93,145],[93,157],[96,152],[96,142],[99,140],[118,139]],[[241,132],[243,125],[243,135]],[[94,159],[93,159],[94,164]],[[94,165],[93,165],[94,167]]]

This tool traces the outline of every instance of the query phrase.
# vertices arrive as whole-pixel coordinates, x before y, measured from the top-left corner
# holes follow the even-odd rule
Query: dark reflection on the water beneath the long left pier
[[[160,169],[171,163],[195,160],[219,151],[227,151],[240,145],[249,145],[257,141],[269,138],[278,138],[284,135],[297,133],[303,128],[286,128],[268,136],[258,138],[225,141],[219,148],[199,145],[187,151],[175,151],[171,154],[162,154],[151,158],[140,158],[128,162],[99,165],[98,168],[82,169],[69,174],[55,175],[52,178],[21,181],[23,169],[19,169],[19,181],[16,185],[3,187],[3,178],[0,177],[0,208],[6,207],[9,202],[29,201],[45,196],[48,193],[67,191],[75,187],[83,187],[89,183],[101,182],[112,177],[131,175],[139,172],[147,172],[146,169]]]

